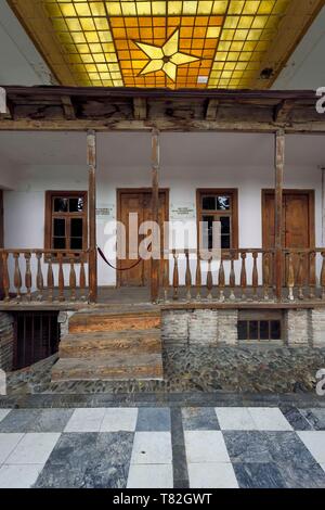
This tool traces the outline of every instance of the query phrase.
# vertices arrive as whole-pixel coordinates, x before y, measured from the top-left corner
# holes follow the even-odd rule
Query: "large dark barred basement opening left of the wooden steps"
[[[58,349],[57,311],[20,311],[14,315],[14,370],[29,367]]]

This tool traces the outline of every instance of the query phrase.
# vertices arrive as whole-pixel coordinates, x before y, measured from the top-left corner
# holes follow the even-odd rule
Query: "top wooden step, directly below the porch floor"
[[[69,319],[69,333],[95,331],[152,330],[160,328],[157,311],[145,313],[80,313]]]

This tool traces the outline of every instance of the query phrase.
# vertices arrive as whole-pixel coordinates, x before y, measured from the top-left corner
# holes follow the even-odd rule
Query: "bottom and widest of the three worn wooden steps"
[[[162,380],[160,354],[113,354],[95,358],[64,358],[52,368],[52,381]]]

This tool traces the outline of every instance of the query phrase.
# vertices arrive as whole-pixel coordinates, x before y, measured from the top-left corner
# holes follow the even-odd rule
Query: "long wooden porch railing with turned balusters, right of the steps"
[[[209,260],[203,260],[196,250],[168,253],[170,264],[162,277],[165,302],[276,301],[275,250],[230,250],[221,259]],[[282,266],[283,301],[325,299],[325,248],[285,248]]]

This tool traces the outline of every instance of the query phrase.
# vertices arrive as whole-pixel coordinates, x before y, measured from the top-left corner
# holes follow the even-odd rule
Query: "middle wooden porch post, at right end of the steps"
[[[153,221],[155,221],[156,224],[159,224],[158,171],[159,171],[159,131],[157,129],[153,129],[152,131],[152,216],[153,216]],[[154,246],[152,246],[152,252],[154,254],[155,252]],[[151,296],[152,296],[153,302],[156,302],[159,296],[159,266],[160,266],[160,262],[156,258],[152,258]]]

